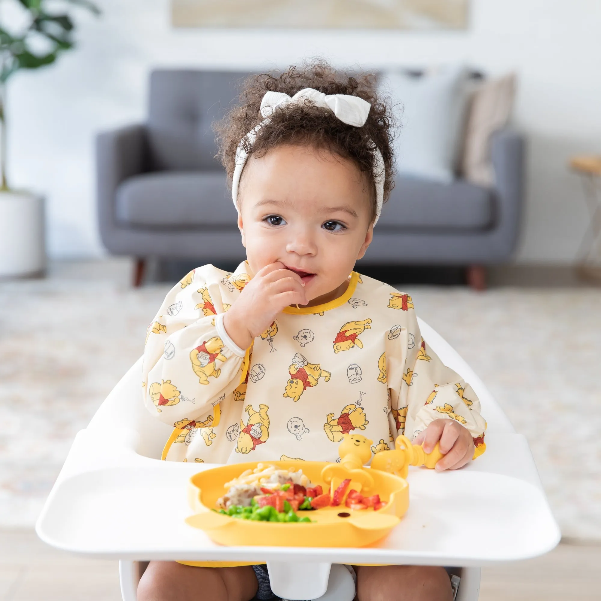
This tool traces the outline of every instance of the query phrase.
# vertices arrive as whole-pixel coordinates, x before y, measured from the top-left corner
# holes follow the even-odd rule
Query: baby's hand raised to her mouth
[[[248,349],[284,307],[295,304],[307,304],[301,276],[276,261],[259,270],[242,289],[224,315],[225,331],[241,349]]]

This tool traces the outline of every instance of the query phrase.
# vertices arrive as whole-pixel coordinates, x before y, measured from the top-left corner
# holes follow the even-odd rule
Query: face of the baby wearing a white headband
[[[370,202],[355,164],[327,150],[281,145],[249,157],[238,226],[252,272],[281,261],[309,301],[335,291],[371,242]]]

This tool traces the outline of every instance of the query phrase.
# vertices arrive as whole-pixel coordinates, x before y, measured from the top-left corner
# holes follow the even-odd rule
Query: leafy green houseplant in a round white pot
[[[21,26],[14,31],[0,13],[0,277],[39,273],[45,263],[43,198],[8,186],[7,83],[20,69],[50,65],[73,48],[75,25],[69,5],[100,13],[88,0],[9,1]],[[0,8],[6,6],[7,0],[0,0]]]

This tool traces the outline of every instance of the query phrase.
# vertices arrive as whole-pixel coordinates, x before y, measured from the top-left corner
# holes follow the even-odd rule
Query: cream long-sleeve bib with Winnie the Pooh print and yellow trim
[[[480,402],[421,337],[408,294],[353,272],[342,296],[285,308],[240,349],[222,320],[250,279],[246,261],[234,273],[199,267],[148,326],[144,403],[174,429],[163,459],[334,462],[344,434],[377,453],[438,418],[484,450]]]

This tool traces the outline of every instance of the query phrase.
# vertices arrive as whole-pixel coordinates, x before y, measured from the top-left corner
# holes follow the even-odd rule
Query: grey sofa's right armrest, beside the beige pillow
[[[511,129],[498,130],[490,141],[495,172],[495,245],[507,258],[513,252],[522,217],[525,172],[525,140]]]

